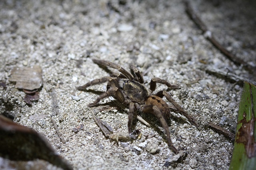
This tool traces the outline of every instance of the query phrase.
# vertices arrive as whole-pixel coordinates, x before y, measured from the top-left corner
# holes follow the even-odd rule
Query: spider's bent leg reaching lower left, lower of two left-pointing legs
[[[95,106],[100,102],[100,100],[112,95],[115,95],[116,98],[120,100],[120,102],[124,102],[124,95],[122,94],[122,92],[117,87],[111,87],[106,92],[102,93],[93,103],[88,104],[88,107]]]

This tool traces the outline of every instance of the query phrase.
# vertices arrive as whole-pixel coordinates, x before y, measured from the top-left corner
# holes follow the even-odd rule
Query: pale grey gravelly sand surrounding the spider
[[[255,2],[194,0],[192,7],[224,47],[256,64]],[[0,86],[0,113],[44,135],[75,170],[228,169],[233,143],[206,127],[206,122],[234,133],[242,87],[205,69],[218,68],[251,80],[254,76],[205,39],[185,13],[183,2],[6,0],[0,1],[0,16],[0,81],[7,84],[7,88]],[[97,107],[87,107],[100,94],[97,91],[106,91],[106,84],[89,88],[96,91],[78,91],[76,86],[108,75],[92,59],[115,62],[128,70],[134,64],[144,73],[146,86],[152,77],[159,77],[181,87],[169,93],[201,127],[198,130],[172,113],[172,141],[187,153],[182,162],[169,166],[175,154],[154,117],[148,119],[153,126],[137,121],[134,129],[144,134],[139,139],[117,145],[104,137],[92,113],[115,133],[127,131],[128,114],[108,98]],[[42,68],[43,86],[40,99],[28,105],[24,92],[8,79],[13,68],[34,65]],[[164,89],[158,85],[156,91]],[[60,141],[50,119],[54,93],[58,111],[52,118],[66,143]],[[80,124],[83,130],[72,131]]]

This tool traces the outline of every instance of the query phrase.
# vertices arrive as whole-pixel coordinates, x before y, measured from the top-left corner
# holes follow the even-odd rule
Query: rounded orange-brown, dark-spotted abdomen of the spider
[[[162,98],[160,98],[158,96],[150,96],[145,101],[145,104],[146,104],[146,106],[150,106],[150,105],[157,106],[158,109],[161,110],[161,112],[165,118],[169,117],[169,114],[170,114],[169,106],[166,102],[164,102],[164,100],[162,100]]]

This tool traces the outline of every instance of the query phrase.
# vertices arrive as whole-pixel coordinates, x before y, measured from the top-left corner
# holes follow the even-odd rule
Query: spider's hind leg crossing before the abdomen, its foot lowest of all
[[[162,124],[162,127],[164,128],[164,131],[166,133],[168,146],[174,151],[174,153],[177,154],[179,151],[172,144],[172,140],[170,137],[170,130],[169,130],[166,120],[164,119],[162,111],[157,106],[148,105],[143,108],[143,112],[154,113],[156,115],[156,117],[159,119],[159,121]]]

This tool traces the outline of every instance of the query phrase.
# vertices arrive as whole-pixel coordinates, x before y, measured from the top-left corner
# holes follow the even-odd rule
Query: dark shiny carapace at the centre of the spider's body
[[[134,80],[122,80],[119,85],[126,96],[134,102],[144,103],[150,94],[143,84]]]

